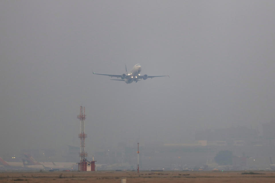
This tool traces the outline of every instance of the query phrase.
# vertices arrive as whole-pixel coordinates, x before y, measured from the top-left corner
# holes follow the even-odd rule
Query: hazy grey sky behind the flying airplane
[[[275,1],[0,1],[0,147],[183,143],[275,119]],[[99,73],[169,74],[126,84]],[[92,148],[93,145],[93,148]]]

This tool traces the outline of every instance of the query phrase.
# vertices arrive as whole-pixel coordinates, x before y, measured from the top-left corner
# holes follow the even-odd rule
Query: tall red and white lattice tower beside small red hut
[[[79,156],[81,157],[80,163],[78,163],[78,170],[79,171],[87,171],[87,153],[85,152],[85,138],[87,137],[87,134],[85,134],[85,107],[80,106],[80,114],[77,116],[77,119],[81,121],[81,133],[78,134],[78,137],[80,138],[81,144],[80,144],[80,153]]]

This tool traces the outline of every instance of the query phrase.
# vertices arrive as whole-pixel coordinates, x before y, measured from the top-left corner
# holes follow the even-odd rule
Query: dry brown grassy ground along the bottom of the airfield
[[[248,173],[250,171],[247,171]],[[38,183],[38,182],[121,182],[121,178],[126,178],[127,183],[142,182],[275,182],[275,172],[273,171],[253,171],[256,174],[242,174],[244,171],[164,171],[151,172],[5,172],[0,173],[1,182],[15,183]],[[257,174],[259,173],[259,174]]]

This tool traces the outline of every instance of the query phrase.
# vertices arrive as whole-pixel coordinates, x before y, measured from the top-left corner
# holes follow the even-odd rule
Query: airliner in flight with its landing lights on
[[[141,65],[140,64],[135,64],[135,66],[133,67],[133,69],[131,70],[130,73],[127,72],[127,67],[125,65],[125,70],[126,70],[126,74],[99,74],[99,73],[95,73],[93,72],[93,74],[99,74],[99,75],[105,75],[105,76],[110,76],[110,77],[117,77],[117,78],[121,78],[121,79],[110,79],[110,80],[116,80],[116,81],[125,81],[127,84],[135,81],[140,81],[142,79],[146,80],[147,78],[154,78],[154,77],[163,77],[163,76],[168,76],[169,75],[162,75],[162,76],[148,76],[147,74],[144,75],[140,75],[140,71],[141,71]]]

